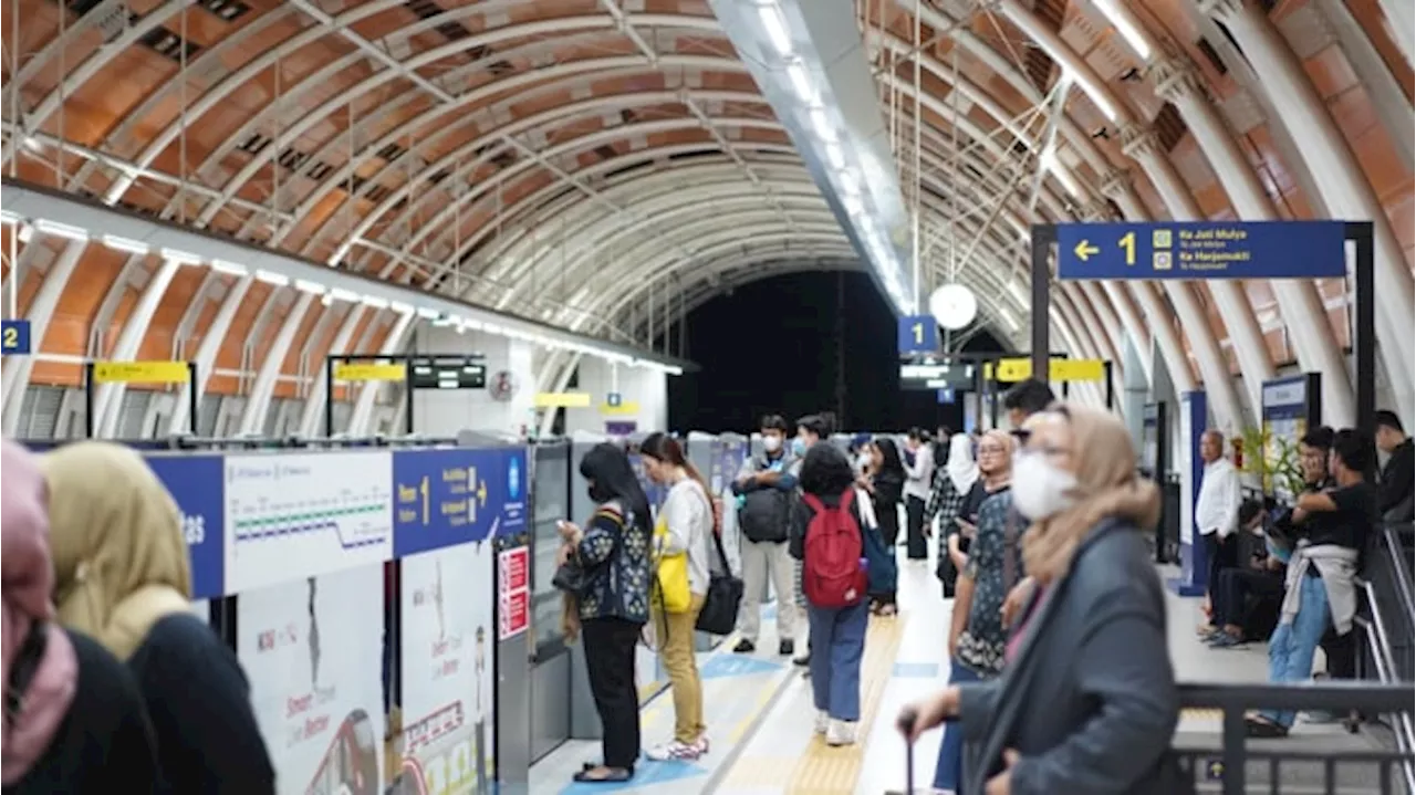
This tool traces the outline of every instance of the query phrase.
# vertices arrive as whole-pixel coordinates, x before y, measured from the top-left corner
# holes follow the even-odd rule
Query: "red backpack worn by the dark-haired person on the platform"
[[[803,494],[801,499],[816,512],[806,529],[801,593],[816,607],[860,604],[868,579],[861,564],[865,555],[861,525],[851,511],[855,489],[847,489],[835,508],[823,505],[811,494]]]

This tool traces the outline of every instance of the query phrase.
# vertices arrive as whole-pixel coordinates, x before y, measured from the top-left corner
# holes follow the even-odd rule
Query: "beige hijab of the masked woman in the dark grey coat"
[[[1044,583],[1066,576],[1086,536],[1106,518],[1150,530],[1160,521],[1160,491],[1136,474],[1136,448],[1113,414],[1076,405],[1055,409],[1072,426],[1076,504],[1028,528],[1022,562]]]

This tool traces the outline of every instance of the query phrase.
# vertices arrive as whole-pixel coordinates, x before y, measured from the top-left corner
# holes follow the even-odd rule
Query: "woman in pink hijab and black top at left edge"
[[[0,441],[0,792],[160,792],[153,730],[133,678],[54,624],[44,475]]]

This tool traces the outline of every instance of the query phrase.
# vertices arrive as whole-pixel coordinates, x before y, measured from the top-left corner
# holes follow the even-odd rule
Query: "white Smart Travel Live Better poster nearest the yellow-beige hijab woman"
[[[236,655],[278,795],[378,795],[384,569],[361,566],[241,594]]]

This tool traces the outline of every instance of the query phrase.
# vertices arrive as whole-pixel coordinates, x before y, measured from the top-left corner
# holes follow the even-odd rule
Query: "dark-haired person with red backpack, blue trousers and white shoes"
[[[855,743],[861,719],[861,658],[869,624],[869,549],[862,497],[845,454],[813,446],[801,463],[801,502],[793,511],[792,557],[811,628],[816,731],[828,745]]]

